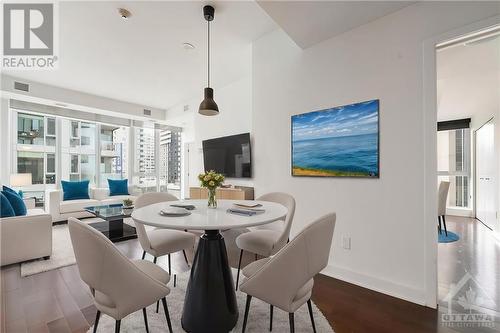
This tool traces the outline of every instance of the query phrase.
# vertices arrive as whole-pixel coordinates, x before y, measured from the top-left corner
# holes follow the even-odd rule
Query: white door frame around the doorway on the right
[[[436,45],[500,24],[500,15],[475,22],[423,43],[424,290],[425,305],[437,308],[437,78]]]

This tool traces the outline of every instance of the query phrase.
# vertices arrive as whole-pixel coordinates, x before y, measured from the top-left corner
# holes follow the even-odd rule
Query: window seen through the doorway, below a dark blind
[[[438,132],[438,180],[449,181],[449,207],[470,207],[470,130]]]

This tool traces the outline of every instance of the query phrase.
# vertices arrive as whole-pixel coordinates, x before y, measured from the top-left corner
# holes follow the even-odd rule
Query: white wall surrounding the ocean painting
[[[255,189],[295,196],[294,234],[337,212],[326,273],[425,304],[423,45],[498,12],[496,3],[417,3],[304,51],[281,31],[254,43]],[[290,176],[291,115],[374,98],[379,180]]]

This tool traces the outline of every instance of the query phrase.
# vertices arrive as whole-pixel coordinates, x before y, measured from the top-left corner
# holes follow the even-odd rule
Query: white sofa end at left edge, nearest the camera
[[[43,209],[25,216],[0,218],[0,265],[52,255],[52,218]]]

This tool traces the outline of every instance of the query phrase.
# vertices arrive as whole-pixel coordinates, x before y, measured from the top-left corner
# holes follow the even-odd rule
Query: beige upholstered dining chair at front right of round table
[[[313,278],[328,264],[335,220],[335,213],[319,218],[276,255],[254,261],[243,269],[244,280],[240,289],[247,294],[243,333],[252,297],[270,304],[271,330],[273,307],[288,312],[291,333],[295,332],[294,312],[307,303],[313,331],[316,332],[310,299]]]

